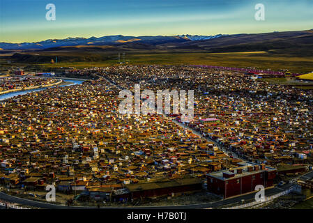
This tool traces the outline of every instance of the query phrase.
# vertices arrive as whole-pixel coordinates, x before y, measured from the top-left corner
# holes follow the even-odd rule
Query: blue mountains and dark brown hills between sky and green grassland
[[[127,54],[259,52],[298,57],[313,56],[313,30],[216,36],[103,36],[66,38],[37,43],[0,43],[1,59],[21,63],[105,61]],[[7,55],[6,55],[7,54]],[[302,66],[302,65],[299,65]]]

